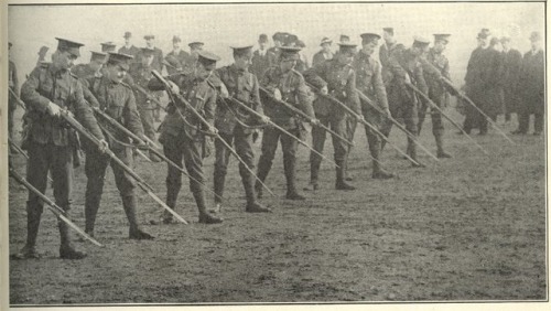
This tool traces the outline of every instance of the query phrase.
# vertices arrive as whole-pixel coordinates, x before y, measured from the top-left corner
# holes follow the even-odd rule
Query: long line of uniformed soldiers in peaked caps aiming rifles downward
[[[190,190],[199,212],[199,223],[223,222],[219,213],[230,156],[239,161],[246,194],[245,211],[271,212],[259,200],[263,191],[269,190],[264,182],[278,142],[281,142],[283,151],[285,197],[305,200],[296,185],[298,146],[303,144],[311,150],[311,178],[306,190],[316,191],[320,189],[321,162],[331,161],[323,156],[326,132],[333,139],[335,189],[355,190],[349,183],[352,179],[347,174],[347,162],[357,122],[365,126],[374,161],[371,176],[391,179],[393,173],[381,167],[380,154],[388,142],[392,125],[407,133],[408,150],[404,156],[413,167],[424,167],[417,157],[417,137],[428,107],[432,110],[437,158],[451,158],[444,150],[440,109],[444,107],[446,94],[460,95],[445,84],[450,73],[443,51],[450,36],[435,34],[431,49],[429,40],[417,36],[407,49],[396,42],[392,29],[383,29],[385,44],[379,50],[380,63],[372,57],[381,39],[379,34],[361,34],[359,52],[356,51],[357,45],[343,37],[335,54],[327,49],[331,40],[323,39],[322,51],[314,57],[313,66],[309,67],[300,55],[303,44],[296,36],[277,33],[273,36],[276,46],[266,49],[267,36],[260,35],[259,51],[252,52],[252,45],[233,46],[234,63],[222,68],[216,68],[219,57],[203,51],[201,42],[191,43],[192,53],[187,55],[179,52],[181,40],[175,36],[175,49],[166,56],[170,61],[165,61],[162,51],[153,44],[141,50],[131,45],[129,32],[125,34],[126,45],[118,52],[115,52],[112,43],[105,43],[102,52],[94,52],[88,64],[73,66],[84,44],[57,39],[58,45],[52,54],[52,62],[40,63],[21,87],[21,99],[26,104],[22,139],[22,149],[29,153],[26,179],[44,193],[51,172],[56,204],[64,211],[71,208],[73,167],[78,156],[75,149],[80,148],[80,139],[75,129],[60,118],[63,114],[69,114],[95,141],[82,141],[88,179],[86,233],[94,236],[105,173],[111,162],[129,221],[129,237],[152,239],[153,236],[140,228],[136,217],[134,189],[137,184],[140,185],[140,181],[121,164],[114,164],[110,161],[114,159],[106,156],[106,150],[112,150],[115,157],[127,167],[132,165],[137,148],[153,151],[150,158],[159,156],[153,149],[156,136],[151,126],[152,111],[158,108],[166,110],[166,117],[159,128],[159,142],[164,153],[162,158],[168,163],[168,207],[161,216],[163,224],[174,222],[182,173],[190,178]],[[151,43],[154,36],[148,35],[145,40]],[[531,51],[525,58],[540,55],[538,53]],[[301,62],[304,66],[298,69]],[[163,65],[171,68],[166,77],[160,75]],[[467,87],[472,84],[469,71],[473,68],[469,62]],[[17,74],[13,76],[17,77]],[[10,79],[10,88],[17,90],[17,79]],[[415,89],[420,90],[415,93]],[[166,92],[171,98],[166,107],[159,103],[161,92]],[[473,92],[473,88],[467,88],[467,93],[476,98]],[[428,99],[419,97],[419,93],[428,95]],[[13,96],[17,97],[17,92]],[[428,105],[426,101],[431,100],[434,106]],[[126,131],[96,119],[95,111],[107,115]],[[474,115],[467,115],[467,118]],[[396,119],[402,120],[404,127]],[[313,127],[312,147],[304,142],[307,124]],[[252,146],[259,129],[263,129],[261,154],[258,169],[253,172]],[[205,185],[203,159],[210,153],[208,147],[212,140],[216,157],[215,206],[209,211],[205,200],[205,189],[209,189]],[[17,258],[39,257],[35,242],[43,202],[33,192],[29,193],[26,211],[26,244],[15,255]],[[73,247],[67,225],[60,221],[58,228],[61,257],[84,258],[86,254]]]

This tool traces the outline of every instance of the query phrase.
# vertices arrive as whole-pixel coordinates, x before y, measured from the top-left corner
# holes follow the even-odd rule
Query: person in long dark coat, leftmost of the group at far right
[[[491,115],[495,114],[493,107],[496,103],[495,89],[499,79],[499,58],[496,57],[496,51],[489,47],[489,40],[488,29],[483,29],[477,35],[478,47],[473,51],[467,64],[465,93],[478,105],[478,108]],[[475,127],[479,129],[479,135],[488,132],[488,121],[479,111],[472,106],[466,106],[465,112],[463,129],[466,133],[471,133]]]

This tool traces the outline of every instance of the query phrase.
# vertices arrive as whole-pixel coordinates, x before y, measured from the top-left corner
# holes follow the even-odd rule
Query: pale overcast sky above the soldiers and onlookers
[[[331,3],[331,4],[116,4],[116,6],[10,6],[9,41],[12,58],[22,76],[34,67],[42,45],[56,46],[54,36],[85,43],[82,58],[100,50],[100,42],[123,44],[125,31],[133,33],[133,44],[143,46],[143,35],[154,34],[164,53],[174,34],[184,43],[203,41],[205,49],[231,60],[233,44],[253,44],[260,33],[291,32],[305,42],[311,57],[323,36],[334,41],[339,34],[360,43],[359,34],[393,26],[399,42],[410,45],[413,35],[432,39],[433,33],[451,33],[446,54],[452,76],[463,78],[466,62],[476,45],[476,34],[488,28],[495,35],[512,35],[514,46],[529,50],[528,36],[544,31],[543,3]],[[186,44],[183,44],[187,49]]]

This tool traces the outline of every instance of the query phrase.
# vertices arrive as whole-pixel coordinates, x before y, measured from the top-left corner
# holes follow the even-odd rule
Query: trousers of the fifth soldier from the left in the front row
[[[299,128],[288,129],[288,131],[300,137],[301,132]],[[272,167],[273,158],[276,156],[276,150],[278,149],[278,142],[281,142],[281,148],[283,151],[283,171],[287,179],[287,192],[296,193],[295,183],[295,165],[296,165],[296,147],[299,142],[288,135],[284,135],[276,128],[264,128],[262,136],[262,147],[260,159],[258,160],[258,171],[257,176],[262,182],[266,181],[268,173]],[[257,184],[257,189],[258,189]]]

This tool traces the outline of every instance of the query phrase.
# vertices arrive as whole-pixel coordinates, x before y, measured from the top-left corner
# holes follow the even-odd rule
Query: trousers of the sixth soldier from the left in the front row
[[[320,120],[322,125],[328,127],[329,129],[341,135],[342,137],[347,138],[349,131],[352,131],[352,130],[347,131],[346,117],[344,115],[336,115],[336,114],[329,114],[327,116],[316,115],[316,118]],[[320,153],[323,153],[326,132],[327,131],[321,127],[312,128],[312,148]],[[346,170],[344,162],[347,158],[346,156],[348,152],[348,146],[346,144],[346,142],[342,141],[335,136],[332,136],[332,139],[334,149],[333,157],[335,163],[342,167],[341,169],[344,172]],[[320,157],[314,152],[310,152],[310,182],[312,184],[317,183],[321,163],[322,163],[322,157]]]

